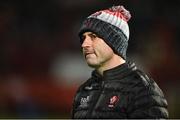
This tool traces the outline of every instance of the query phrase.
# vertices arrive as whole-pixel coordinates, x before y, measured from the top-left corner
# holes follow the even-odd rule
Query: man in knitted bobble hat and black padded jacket
[[[126,62],[130,17],[123,6],[113,6],[83,22],[83,54],[95,70],[77,91],[72,118],[168,118],[161,89]]]

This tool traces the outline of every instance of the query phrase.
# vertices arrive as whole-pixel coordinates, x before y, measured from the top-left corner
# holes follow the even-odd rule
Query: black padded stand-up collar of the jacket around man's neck
[[[117,67],[104,71],[103,76],[94,70],[92,72],[92,77],[97,80],[117,80],[127,76],[136,69],[137,68],[134,63],[126,62]]]

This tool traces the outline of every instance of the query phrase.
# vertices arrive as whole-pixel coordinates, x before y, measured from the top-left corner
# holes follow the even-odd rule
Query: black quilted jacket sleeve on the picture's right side
[[[167,119],[167,105],[167,101],[161,89],[153,80],[150,80],[147,84],[140,85],[136,89],[136,94],[131,104],[131,112],[128,117]]]

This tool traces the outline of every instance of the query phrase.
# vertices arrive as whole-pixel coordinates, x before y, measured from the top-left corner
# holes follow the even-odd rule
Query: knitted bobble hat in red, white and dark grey
[[[102,38],[116,54],[126,59],[129,40],[127,22],[130,18],[131,14],[123,6],[100,10],[84,20],[79,37],[81,38],[84,32],[93,32]]]

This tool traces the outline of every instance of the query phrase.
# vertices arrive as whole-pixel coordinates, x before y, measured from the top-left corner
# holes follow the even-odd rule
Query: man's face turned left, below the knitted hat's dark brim
[[[100,67],[112,58],[113,50],[96,34],[85,32],[81,39],[83,54],[90,67]]]

